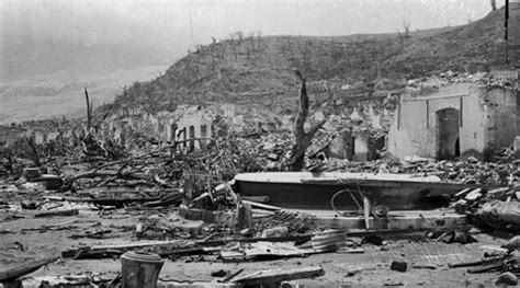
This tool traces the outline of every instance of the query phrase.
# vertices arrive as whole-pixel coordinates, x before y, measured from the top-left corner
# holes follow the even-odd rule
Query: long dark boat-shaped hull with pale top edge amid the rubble
[[[269,204],[285,208],[357,210],[362,196],[389,209],[427,209],[446,205],[446,196],[477,185],[444,183],[437,176],[370,173],[275,172],[235,176],[244,196],[268,196]]]

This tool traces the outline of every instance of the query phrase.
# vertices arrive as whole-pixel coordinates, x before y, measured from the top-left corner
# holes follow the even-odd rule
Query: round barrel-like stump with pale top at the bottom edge
[[[121,256],[123,288],[155,288],[165,261],[157,254],[126,252]]]

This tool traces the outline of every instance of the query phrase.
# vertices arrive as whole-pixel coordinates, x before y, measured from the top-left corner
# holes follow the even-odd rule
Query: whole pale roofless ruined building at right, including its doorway
[[[407,89],[388,134],[388,151],[398,158],[489,160],[520,134],[519,104],[513,87],[484,81]]]

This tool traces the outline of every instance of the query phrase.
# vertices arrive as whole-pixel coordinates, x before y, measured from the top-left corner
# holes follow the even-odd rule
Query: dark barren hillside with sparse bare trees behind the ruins
[[[520,4],[511,3],[510,26],[520,26]],[[519,42],[518,34],[510,33]],[[475,71],[505,65],[504,8],[457,27],[428,32],[346,37],[235,35],[200,46],[167,72],[118,95],[113,107],[145,110],[174,103],[236,102],[242,95],[295,95],[292,69],[326,89],[344,84],[394,88],[439,71]],[[518,60],[520,46],[510,47]],[[375,81],[377,80],[377,81]]]

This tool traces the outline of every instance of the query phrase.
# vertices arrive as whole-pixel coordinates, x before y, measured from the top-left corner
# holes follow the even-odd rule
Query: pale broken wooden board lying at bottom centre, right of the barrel
[[[281,281],[289,281],[303,278],[314,278],[324,276],[325,270],[321,267],[304,267],[294,269],[268,269],[256,272],[239,278],[234,279],[234,283],[239,283],[245,286],[251,285],[267,285],[278,284]]]

